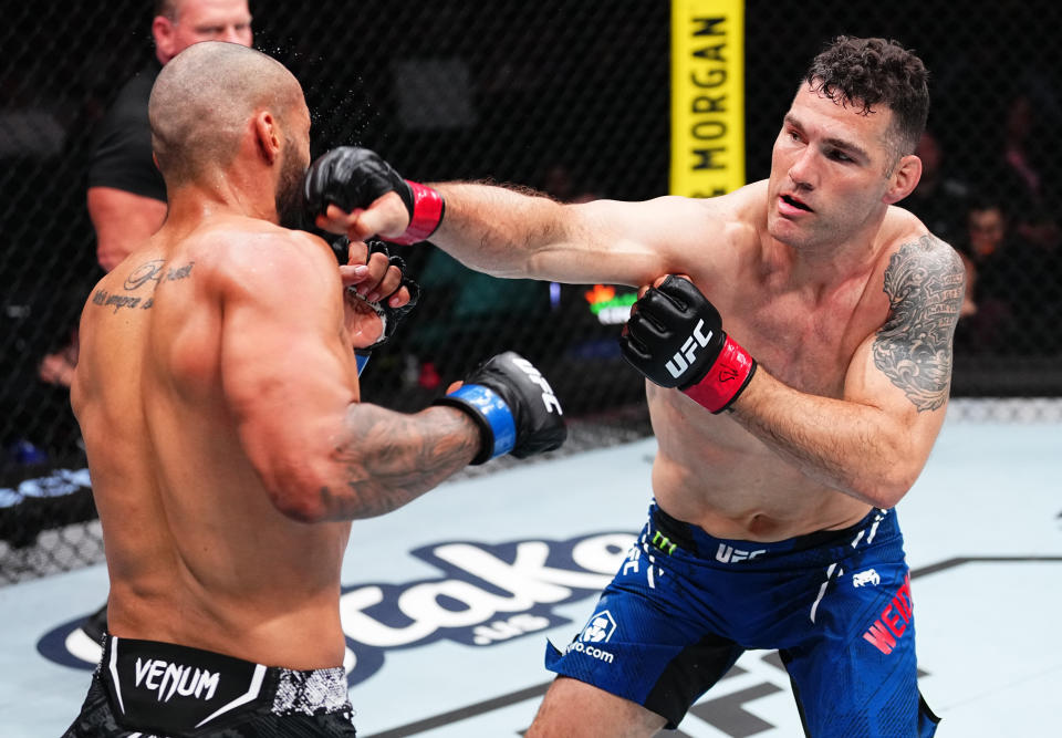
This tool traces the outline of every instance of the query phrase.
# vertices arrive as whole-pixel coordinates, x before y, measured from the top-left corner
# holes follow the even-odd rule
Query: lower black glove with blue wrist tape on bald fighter
[[[435,405],[468,413],[482,436],[472,464],[511,453],[517,458],[552,451],[568,438],[561,403],[527,358],[512,351],[477,366],[465,384]]]

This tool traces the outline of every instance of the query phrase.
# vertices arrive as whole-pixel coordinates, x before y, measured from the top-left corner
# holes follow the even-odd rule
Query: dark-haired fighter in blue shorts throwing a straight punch
[[[944,420],[964,292],[956,252],[896,207],[922,171],[926,77],[899,44],[837,39],[770,178],[712,199],[391,179],[396,196],[350,186],[386,170],[364,149],[314,163],[308,201],[336,232],[413,228],[492,274],[644,287],[621,347],[649,381],[655,503],[587,625],[548,652],[560,676],[529,738],[674,728],[747,648],[780,651],[809,736],[935,731],[894,510]]]

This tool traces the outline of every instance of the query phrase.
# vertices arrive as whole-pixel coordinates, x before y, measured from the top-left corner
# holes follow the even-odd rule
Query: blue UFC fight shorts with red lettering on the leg
[[[586,626],[545,666],[675,728],[749,648],[777,648],[804,734],[927,737],[904,539],[892,510],[774,543],[725,540],[656,505]]]

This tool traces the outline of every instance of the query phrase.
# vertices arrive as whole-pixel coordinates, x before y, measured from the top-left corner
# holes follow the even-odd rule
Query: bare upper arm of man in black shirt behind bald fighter
[[[96,259],[105,271],[143,246],[166,219],[166,204],[114,187],[88,188],[88,216],[96,229]]]

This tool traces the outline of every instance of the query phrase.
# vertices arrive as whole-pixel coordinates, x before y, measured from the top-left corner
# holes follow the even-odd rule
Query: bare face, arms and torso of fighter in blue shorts
[[[804,85],[768,180],[706,200],[572,206],[439,185],[433,240],[507,277],[687,276],[761,371],[726,416],[647,383],[662,508],[721,538],[843,528],[895,505],[928,457],[962,294],[955,251],[893,205],[920,165],[908,156],[882,176],[888,125]]]

